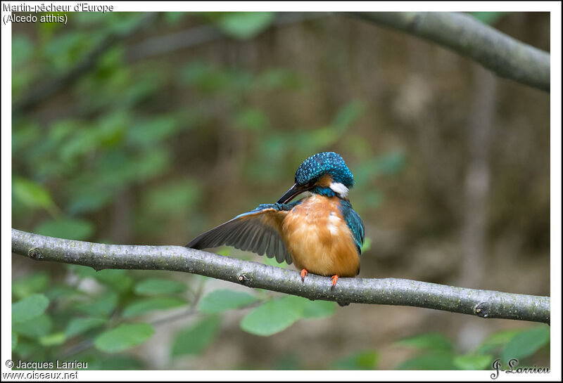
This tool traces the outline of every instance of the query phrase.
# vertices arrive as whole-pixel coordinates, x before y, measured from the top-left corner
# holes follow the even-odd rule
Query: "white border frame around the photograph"
[[[2,18],[4,4],[2,1]],[[71,4],[13,1],[11,4]],[[510,375],[511,380],[560,380],[561,374],[561,4],[558,1],[89,1],[115,11],[549,11],[551,13],[551,373]],[[1,25],[1,372],[11,358],[11,25]],[[524,86],[524,85],[523,85]],[[79,371],[78,380],[491,380],[490,371]],[[500,376],[508,380],[508,376]],[[4,377],[3,377],[4,380]]]

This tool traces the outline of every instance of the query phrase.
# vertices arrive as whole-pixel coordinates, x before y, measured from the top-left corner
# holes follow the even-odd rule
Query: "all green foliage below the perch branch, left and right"
[[[176,320],[179,313],[186,318],[194,316],[196,320],[172,337],[171,358],[205,353],[220,337],[222,314],[228,311],[242,310],[241,330],[259,336],[282,332],[297,320],[327,318],[336,311],[334,302],[309,301],[261,290],[252,293],[213,290],[197,299],[191,294],[197,287],[178,280],[155,279],[150,273],[140,271],[108,271],[104,274],[84,266],[69,266],[65,279],[77,280],[72,284],[76,287],[51,283],[49,273],[44,271],[14,280],[12,349],[15,356],[27,360],[80,358],[93,366],[90,368],[110,369],[116,365],[111,363],[108,353],[120,353],[143,344],[158,327]],[[127,282],[122,284],[124,278]],[[81,287],[88,281],[96,284],[96,292]],[[205,283],[205,278],[201,281]],[[149,320],[148,314],[166,311],[171,313]],[[396,342],[397,347],[417,351],[396,368],[489,370],[497,358],[503,368],[510,369],[507,363],[512,358],[517,358],[519,367],[524,367],[531,365],[537,353],[548,352],[549,342],[550,328],[540,325],[493,333],[476,349],[458,353],[445,335],[426,333]],[[117,365],[119,368],[141,368],[144,364],[135,358],[124,358],[127,363]],[[377,351],[359,351],[320,367],[370,370],[378,367],[378,361]],[[284,368],[310,366],[292,361]]]

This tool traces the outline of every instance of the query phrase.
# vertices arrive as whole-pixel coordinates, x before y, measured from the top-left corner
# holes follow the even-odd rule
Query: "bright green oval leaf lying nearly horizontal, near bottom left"
[[[102,332],[94,341],[96,349],[105,352],[120,352],[139,346],[154,334],[146,323],[126,323]]]

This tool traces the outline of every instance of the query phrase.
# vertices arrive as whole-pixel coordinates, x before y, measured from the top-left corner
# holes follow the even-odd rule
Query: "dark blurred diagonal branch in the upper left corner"
[[[94,46],[92,50],[84,56],[84,58],[72,67],[68,72],[61,74],[59,77],[53,79],[48,79],[38,86],[34,86],[29,92],[27,92],[20,100],[14,103],[13,113],[18,115],[23,112],[27,112],[42,103],[44,100],[48,100],[58,93],[65,91],[72,84],[74,84],[77,79],[80,79],[84,74],[91,71],[99,58],[106,53],[108,49],[112,48],[115,44],[123,41],[135,33],[139,32],[141,28],[151,25],[153,20],[157,17],[158,13],[147,13],[144,18],[141,18],[137,25],[132,27],[126,32],[113,32],[104,37],[98,45]]]

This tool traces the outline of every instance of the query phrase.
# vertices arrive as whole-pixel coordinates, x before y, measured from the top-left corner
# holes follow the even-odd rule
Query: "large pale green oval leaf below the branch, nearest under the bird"
[[[303,314],[298,297],[272,299],[258,306],[241,320],[241,328],[254,335],[268,336],[293,325]]]

